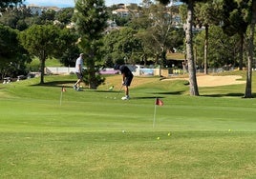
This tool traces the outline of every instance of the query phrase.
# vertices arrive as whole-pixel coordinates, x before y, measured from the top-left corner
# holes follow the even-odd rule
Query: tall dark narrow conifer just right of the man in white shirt
[[[107,11],[103,0],[77,0],[75,3],[75,28],[80,36],[79,47],[85,55],[85,82],[96,89],[104,81],[96,68],[102,59],[103,31],[107,27]]]

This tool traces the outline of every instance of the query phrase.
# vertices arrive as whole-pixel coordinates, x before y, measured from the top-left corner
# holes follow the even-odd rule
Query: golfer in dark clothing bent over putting
[[[122,100],[128,100],[129,97],[129,86],[131,85],[131,82],[133,80],[133,73],[129,68],[125,65],[122,65],[119,67],[119,70],[122,74],[122,85],[125,87],[125,96],[122,97]]]

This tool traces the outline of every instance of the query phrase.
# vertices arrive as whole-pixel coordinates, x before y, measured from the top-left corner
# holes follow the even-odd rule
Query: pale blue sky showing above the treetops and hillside
[[[113,4],[119,3],[141,3],[142,0],[105,0],[106,6],[111,6]],[[74,7],[75,1],[74,0],[25,0],[25,4],[34,4],[38,6],[55,6],[59,8],[66,8],[66,7]]]

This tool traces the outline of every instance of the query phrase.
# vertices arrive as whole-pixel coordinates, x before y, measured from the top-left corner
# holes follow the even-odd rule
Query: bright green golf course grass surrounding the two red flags
[[[120,76],[106,79],[83,91],[75,75],[1,84],[0,178],[256,178],[256,101],[242,98],[245,84],[195,97],[184,80],[136,77],[122,101]]]

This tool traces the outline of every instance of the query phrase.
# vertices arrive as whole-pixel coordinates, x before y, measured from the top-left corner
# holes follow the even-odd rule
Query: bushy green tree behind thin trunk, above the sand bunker
[[[205,30],[201,30],[194,37],[194,49],[197,51],[196,61],[200,66],[204,63],[204,41]],[[226,70],[238,64],[236,54],[239,51],[238,35],[228,36],[220,26],[210,26],[208,35],[207,67],[220,68]],[[203,66],[201,66],[203,67]]]

